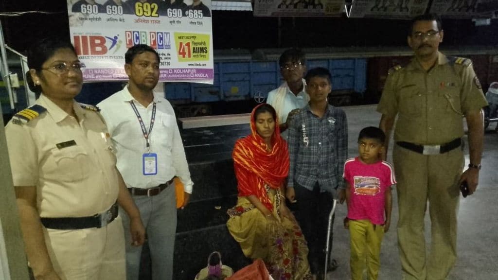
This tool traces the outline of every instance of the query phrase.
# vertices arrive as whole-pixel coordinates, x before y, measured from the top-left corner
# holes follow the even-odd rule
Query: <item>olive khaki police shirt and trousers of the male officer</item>
[[[470,59],[439,53],[425,71],[414,58],[389,71],[377,111],[397,115],[394,140],[440,145],[464,136],[463,116],[486,106]],[[405,279],[442,280],[456,260],[458,181],[464,167],[463,148],[422,154],[398,144],[393,148],[397,179],[397,225]],[[429,200],[431,248],[426,258],[424,215]]]

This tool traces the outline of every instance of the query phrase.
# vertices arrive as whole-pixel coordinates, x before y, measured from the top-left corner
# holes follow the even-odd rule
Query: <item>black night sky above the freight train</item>
[[[39,10],[55,14],[1,17],[6,43],[24,52],[36,39],[69,37],[65,0],[0,0],[0,11]],[[215,50],[284,47],[406,46],[407,20],[368,18],[282,18],[281,41],[276,17],[250,11],[213,11]],[[498,19],[474,26],[470,19],[443,19],[443,45],[498,45]]]

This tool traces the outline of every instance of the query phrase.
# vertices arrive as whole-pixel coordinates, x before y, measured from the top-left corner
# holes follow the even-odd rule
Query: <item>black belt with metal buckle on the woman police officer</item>
[[[114,203],[109,210],[89,217],[75,218],[40,218],[47,229],[55,230],[81,230],[89,228],[102,228],[118,217],[118,203]]]

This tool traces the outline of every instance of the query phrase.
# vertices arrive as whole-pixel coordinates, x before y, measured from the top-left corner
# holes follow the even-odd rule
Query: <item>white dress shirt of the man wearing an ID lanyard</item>
[[[142,155],[147,152],[146,140],[138,118],[129,103],[131,100],[147,132],[152,118],[153,103],[156,103],[154,126],[149,135],[150,153],[157,154],[157,174],[155,175],[143,175]],[[116,166],[128,188],[148,189],[178,176],[185,187],[185,192],[192,193],[193,183],[190,179],[180,131],[176,124],[175,112],[166,99],[154,92],[153,102],[145,108],[131,96],[126,86],[97,106],[101,109],[116,149]]]

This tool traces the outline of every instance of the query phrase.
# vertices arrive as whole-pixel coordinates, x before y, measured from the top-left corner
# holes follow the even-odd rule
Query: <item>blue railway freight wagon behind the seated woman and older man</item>
[[[365,58],[310,59],[306,66],[308,69],[324,67],[331,71],[333,92],[329,101],[332,104],[349,105],[353,96],[363,97],[367,73]],[[176,105],[179,117],[211,115],[213,107],[219,107],[220,103],[226,106],[248,100],[261,103],[266,100],[269,91],[282,83],[276,60],[218,61],[215,62],[214,72],[213,85],[166,84],[166,98]],[[224,109],[221,111],[228,108]]]

